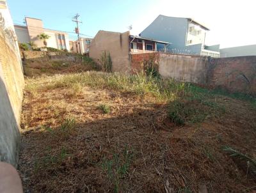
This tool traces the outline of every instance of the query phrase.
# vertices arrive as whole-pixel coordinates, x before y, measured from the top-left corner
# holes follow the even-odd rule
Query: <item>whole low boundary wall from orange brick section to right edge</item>
[[[131,55],[132,72],[141,70],[141,63],[151,56]],[[162,77],[256,96],[256,56],[207,58],[168,53],[154,53],[154,56]]]

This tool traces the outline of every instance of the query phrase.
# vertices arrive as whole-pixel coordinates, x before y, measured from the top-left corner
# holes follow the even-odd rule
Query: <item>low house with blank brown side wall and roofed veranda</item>
[[[157,43],[166,47],[168,42],[161,42],[141,36],[132,36],[130,32],[118,33],[99,31],[90,45],[89,56],[100,63],[102,52],[108,51],[111,56],[113,72],[131,72],[131,55],[156,52]]]

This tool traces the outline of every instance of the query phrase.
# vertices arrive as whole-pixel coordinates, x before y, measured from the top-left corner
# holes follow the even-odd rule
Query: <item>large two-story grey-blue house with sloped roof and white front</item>
[[[167,47],[170,52],[220,57],[220,45],[205,45],[207,31],[208,27],[193,19],[159,15],[140,36],[172,42]]]

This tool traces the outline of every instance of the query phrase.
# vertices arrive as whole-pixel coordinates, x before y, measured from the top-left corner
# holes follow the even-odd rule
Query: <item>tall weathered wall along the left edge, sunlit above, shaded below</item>
[[[24,77],[10,13],[0,14],[0,160],[16,166]]]

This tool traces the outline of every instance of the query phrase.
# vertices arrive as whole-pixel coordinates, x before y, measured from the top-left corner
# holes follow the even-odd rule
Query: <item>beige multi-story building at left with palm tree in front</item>
[[[49,39],[46,40],[47,47],[70,50],[67,33],[44,28],[43,21],[40,19],[26,17],[25,21],[25,26],[14,26],[20,43],[34,42],[37,47],[44,47],[44,42],[38,38],[38,35],[44,33],[49,36]]]

